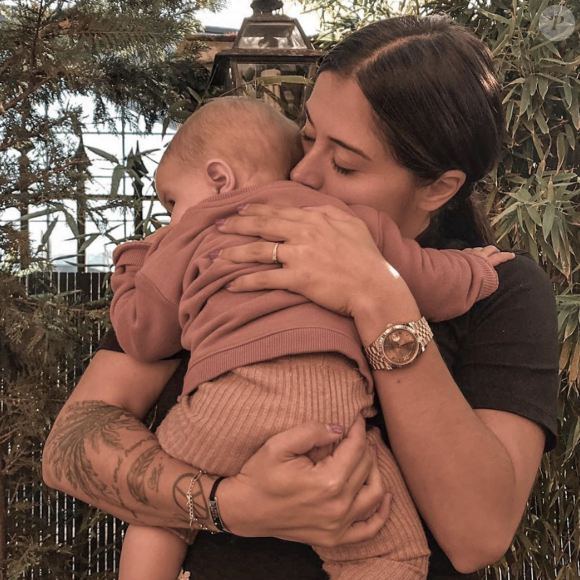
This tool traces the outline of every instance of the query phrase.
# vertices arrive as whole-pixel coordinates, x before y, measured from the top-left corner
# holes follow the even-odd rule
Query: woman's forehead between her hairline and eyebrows
[[[317,138],[330,137],[347,143],[371,159],[384,154],[370,104],[354,80],[322,73],[306,107]]]

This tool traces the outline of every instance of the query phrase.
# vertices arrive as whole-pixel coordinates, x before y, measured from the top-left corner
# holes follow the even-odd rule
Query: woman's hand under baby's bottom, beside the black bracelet
[[[388,518],[392,496],[383,490],[362,416],[332,455],[316,464],[304,455],[341,436],[336,426],[311,421],[269,439],[220,485],[224,524],[241,536],[325,547],[374,537]]]

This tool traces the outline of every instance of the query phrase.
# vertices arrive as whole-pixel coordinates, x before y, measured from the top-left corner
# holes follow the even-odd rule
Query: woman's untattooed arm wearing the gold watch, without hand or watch
[[[399,318],[393,306],[377,300],[359,312],[355,320],[366,344]],[[412,366],[373,376],[393,453],[454,567],[468,573],[500,559],[540,465],[542,429],[512,413],[473,410],[435,343]]]

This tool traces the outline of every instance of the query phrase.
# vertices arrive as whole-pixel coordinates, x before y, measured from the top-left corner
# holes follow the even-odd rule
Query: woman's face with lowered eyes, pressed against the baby
[[[348,205],[384,211],[404,236],[418,235],[429,218],[417,206],[416,180],[380,140],[371,107],[358,84],[322,73],[306,109],[304,158],[291,179]]]

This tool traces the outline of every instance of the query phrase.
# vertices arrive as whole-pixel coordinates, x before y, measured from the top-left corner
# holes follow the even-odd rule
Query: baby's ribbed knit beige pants
[[[350,359],[337,353],[287,356],[239,367],[203,383],[171,409],[157,435],[163,449],[208,473],[233,476],[272,435],[308,420],[348,427],[375,414],[373,394]],[[403,476],[376,428],[385,490],[393,493],[385,526],[372,540],[313,546],[332,580],[424,580],[429,549]],[[333,447],[315,449],[318,461]],[[299,565],[299,564],[297,564]]]

